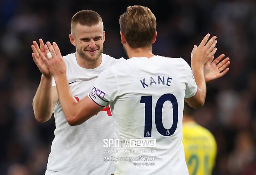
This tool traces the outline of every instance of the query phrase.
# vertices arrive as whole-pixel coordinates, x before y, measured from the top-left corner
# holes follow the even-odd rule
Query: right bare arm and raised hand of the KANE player
[[[205,102],[206,84],[204,77],[204,66],[212,59],[217,50],[215,47],[217,44],[217,37],[213,36],[209,42],[207,42],[209,37],[210,34],[207,34],[198,47],[194,45],[191,53],[191,69],[195,77],[197,91],[193,97],[186,98],[185,100],[189,106],[193,108],[200,108]]]

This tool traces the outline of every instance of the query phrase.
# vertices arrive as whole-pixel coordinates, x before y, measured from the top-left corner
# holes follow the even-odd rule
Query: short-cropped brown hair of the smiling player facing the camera
[[[74,31],[76,24],[81,24],[85,26],[93,26],[98,23],[102,23],[102,18],[100,15],[93,10],[81,10],[77,12],[71,19],[71,34]]]

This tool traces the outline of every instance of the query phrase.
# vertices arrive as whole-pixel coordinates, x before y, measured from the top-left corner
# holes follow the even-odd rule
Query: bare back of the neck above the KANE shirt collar
[[[129,58],[132,58],[132,57],[147,57],[147,58],[151,58],[151,57],[155,56],[152,53],[151,47],[136,48],[136,49],[132,49],[132,48],[128,47],[126,49],[126,51],[127,51],[127,55],[128,55]]]

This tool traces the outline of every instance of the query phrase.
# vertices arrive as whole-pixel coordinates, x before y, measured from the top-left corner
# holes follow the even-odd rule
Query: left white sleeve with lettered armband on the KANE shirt
[[[88,97],[100,106],[108,106],[117,94],[116,75],[111,67],[105,69],[96,79]]]

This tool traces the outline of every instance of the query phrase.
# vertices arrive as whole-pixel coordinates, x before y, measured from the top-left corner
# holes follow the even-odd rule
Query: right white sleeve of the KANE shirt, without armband
[[[185,66],[185,70],[186,70],[186,79],[187,79],[185,98],[190,98],[196,94],[197,85],[196,85],[195,78],[193,76],[190,66],[188,65],[188,63],[185,60],[183,60],[183,61],[184,61],[184,66]]]

